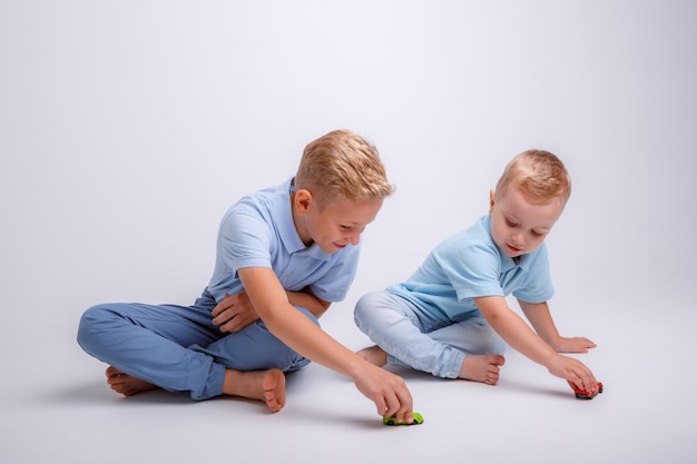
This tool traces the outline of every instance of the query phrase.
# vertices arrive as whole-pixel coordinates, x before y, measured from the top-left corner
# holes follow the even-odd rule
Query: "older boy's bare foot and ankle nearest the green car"
[[[251,372],[225,369],[223,393],[263,401],[276,413],[285,406],[285,375],[277,368]]]

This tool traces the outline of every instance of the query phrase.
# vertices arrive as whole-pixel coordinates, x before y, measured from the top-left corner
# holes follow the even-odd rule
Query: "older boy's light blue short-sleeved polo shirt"
[[[273,269],[286,290],[310,286],[326,302],[346,297],[359,265],[360,244],[333,254],[316,244],[306,247],[293,224],[292,180],[242,198],[223,217],[208,284],[217,302],[226,292],[242,292],[237,270],[245,267]]]

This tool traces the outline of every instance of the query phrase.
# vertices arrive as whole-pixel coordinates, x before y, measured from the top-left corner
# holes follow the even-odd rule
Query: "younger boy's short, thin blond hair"
[[[537,203],[559,198],[566,204],[571,196],[567,168],[556,155],[544,150],[527,150],[509,161],[497,184],[497,194],[503,194],[509,186]]]

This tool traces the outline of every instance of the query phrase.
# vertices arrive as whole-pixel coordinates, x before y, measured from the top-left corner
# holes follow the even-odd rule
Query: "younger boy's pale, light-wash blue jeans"
[[[457,378],[465,356],[503,354],[505,342],[481,316],[459,323],[436,319],[389,292],[359,299],[354,320],[387,353],[387,364]]]

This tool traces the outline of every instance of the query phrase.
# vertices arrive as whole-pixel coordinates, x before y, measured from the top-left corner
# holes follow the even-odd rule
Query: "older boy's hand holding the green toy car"
[[[355,385],[375,403],[381,417],[395,416],[397,422],[413,422],[413,401],[402,377],[365,363],[365,371],[356,376]]]

